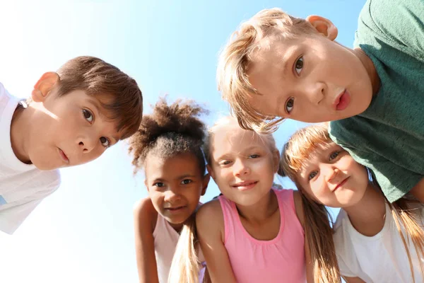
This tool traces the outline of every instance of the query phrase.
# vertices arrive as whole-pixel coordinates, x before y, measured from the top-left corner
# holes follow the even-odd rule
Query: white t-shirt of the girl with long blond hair
[[[423,221],[422,207],[417,209],[417,214]],[[343,209],[338,214],[334,228],[334,246],[341,275],[360,277],[367,283],[413,282],[408,255],[387,204],[383,229],[375,236],[367,237],[356,231]],[[419,262],[424,263],[424,258],[418,258],[412,243],[408,247],[415,282],[424,282],[419,266]]]

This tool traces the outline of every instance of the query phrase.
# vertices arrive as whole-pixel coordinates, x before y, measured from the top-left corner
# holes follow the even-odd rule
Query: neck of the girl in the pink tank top
[[[270,190],[268,194],[259,200],[259,202],[243,206],[235,204],[240,217],[252,224],[261,224],[265,219],[272,216],[278,209],[278,200],[276,194]]]

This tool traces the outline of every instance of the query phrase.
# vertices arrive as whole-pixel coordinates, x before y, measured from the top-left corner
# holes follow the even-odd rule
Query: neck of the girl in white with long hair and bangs
[[[381,192],[369,183],[363,198],[351,207],[343,208],[351,224],[364,236],[375,236],[382,231],[386,215],[386,201]]]

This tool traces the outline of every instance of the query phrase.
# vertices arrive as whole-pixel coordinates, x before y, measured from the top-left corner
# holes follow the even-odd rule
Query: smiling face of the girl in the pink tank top
[[[208,171],[220,192],[233,202],[249,206],[271,190],[278,170],[278,150],[258,134],[241,129],[237,123],[213,132]]]

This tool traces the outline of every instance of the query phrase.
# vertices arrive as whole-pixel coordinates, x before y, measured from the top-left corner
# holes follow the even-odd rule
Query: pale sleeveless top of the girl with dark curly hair
[[[172,258],[174,257],[175,248],[177,248],[179,233],[172,228],[163,216],[158,214],[158,220],[156,220],[155,230],[153,231],[153,238],[155,240],[155,258],[158,267],[159,283],[167,283]],[[199,253],[199,261],[205,261],[201,250]],[[204,268],[201,267],[200,277],[203,276],[203,272]]]

